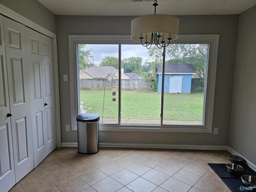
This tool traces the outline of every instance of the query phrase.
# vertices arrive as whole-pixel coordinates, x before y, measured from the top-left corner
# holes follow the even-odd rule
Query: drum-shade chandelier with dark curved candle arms
[[[156,14],[157,1],[154,0],[154,15],[140,16],[132,20],[131,38],[140,41],[150,49],[152,44],[158,48],[166,47],[171,40],[178,38],[179,19],[164,14]]]

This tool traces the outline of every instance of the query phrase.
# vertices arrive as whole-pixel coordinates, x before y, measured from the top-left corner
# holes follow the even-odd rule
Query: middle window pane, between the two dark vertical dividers
[[[159,125],[161,93],[156,86],[156,62],[140,44],[122,44],[121,50],[121,123]]]

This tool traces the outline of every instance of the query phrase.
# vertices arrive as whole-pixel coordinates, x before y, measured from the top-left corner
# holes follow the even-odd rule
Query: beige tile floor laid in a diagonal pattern
[[[227,151],[55,149],[10,192],[230,192],[207,163],[229,163]]]

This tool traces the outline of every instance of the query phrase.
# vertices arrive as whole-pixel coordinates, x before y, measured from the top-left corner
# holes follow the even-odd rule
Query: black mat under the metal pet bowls
[[[214,170],[214,172],[221,178],[221,180],[226,184],[226,186],[228,186],[228,188],[232,192],[256,192],[255,188],[253,190],[246,190],[246,188],[241,188],[240,190],[241,186],[245,187],[241,180],[242,175],[256,176],[256,172],[252,170],[250,167],[248,167],[246,164],[241,165],[244,168],[244,170],[240,175],[230,174],[227,170],[226,164],[208,163],[208,165],[210,166],[210,168],[212,168],[212,170]]]

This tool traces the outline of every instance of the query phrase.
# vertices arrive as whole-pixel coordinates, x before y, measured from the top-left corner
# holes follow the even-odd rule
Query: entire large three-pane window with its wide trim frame
[[[69,44],[73,119],[98,113],[100,130],[212,131],[218,35],[180,36],[165,50],[130,36]]]

